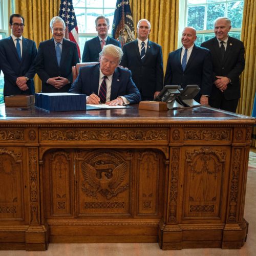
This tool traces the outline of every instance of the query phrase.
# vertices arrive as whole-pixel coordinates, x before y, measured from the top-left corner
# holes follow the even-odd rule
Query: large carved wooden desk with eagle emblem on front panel
[[[254,118],[0,108],[0,249],[240,248]]]

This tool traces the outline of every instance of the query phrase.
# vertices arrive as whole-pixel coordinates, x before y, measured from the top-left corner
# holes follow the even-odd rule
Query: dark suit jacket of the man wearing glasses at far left
[[[1,69],[4,73],[4,96],[13,94],[34,94],[35,58],[37,54],[35,42],[22,40],[22,60],[19,60],[12,37],[0,40]],[[27,76],[28,90],[22,91],[16,85],[19,76]]]

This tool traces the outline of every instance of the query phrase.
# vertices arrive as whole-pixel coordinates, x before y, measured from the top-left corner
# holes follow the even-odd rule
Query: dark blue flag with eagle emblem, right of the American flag
[[[112,37],[120,41],[121,46],[135,40],[135,31],[133,16],[129,0],[117,0],[113,26]]]

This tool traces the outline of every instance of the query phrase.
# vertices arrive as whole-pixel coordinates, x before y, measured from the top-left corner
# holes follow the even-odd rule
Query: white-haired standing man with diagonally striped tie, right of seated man
[[[163,89],[163,55],[160,45],[148,40],[151,24],[141,19],[138,38],[123,46],[121,66],[132,71],[133,80],[142,100],[153,100]]]

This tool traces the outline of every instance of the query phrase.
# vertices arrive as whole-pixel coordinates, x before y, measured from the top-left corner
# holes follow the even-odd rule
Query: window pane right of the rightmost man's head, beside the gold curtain
[[[227,16],[231,19],[232,28],[242,27],[244,1],[227,4]]]

